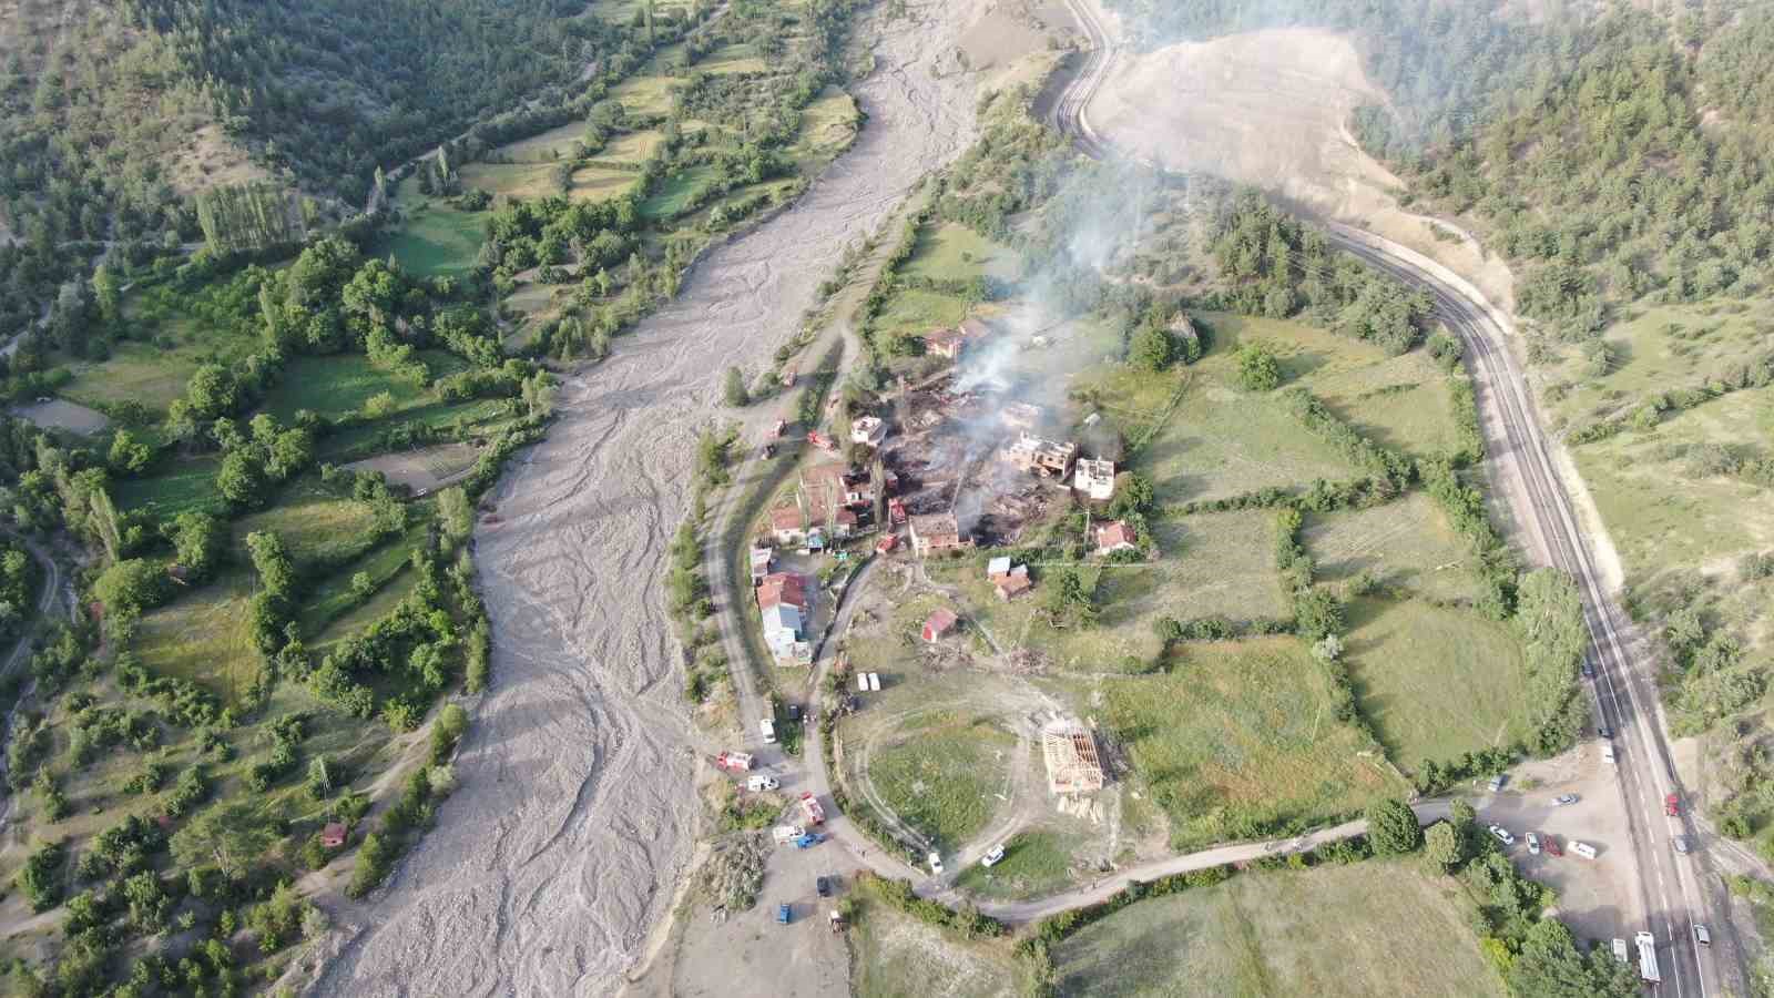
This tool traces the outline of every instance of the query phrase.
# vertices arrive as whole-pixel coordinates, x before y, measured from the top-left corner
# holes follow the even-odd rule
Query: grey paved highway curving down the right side
[[[1066,0],[1079,25],[1091,39],[1086,64],[1061,94],[1054,114],[1091,156],[1112,149],[1091,128],[1087,107],[1107,78],[1116,57],[1111,36],[1086,0]],[[1630,851],[1637,881],[1637,911],[1629,920],[1657,938],[1659,964],[1668,993],[1678,998],[1705,998],[1719,989],[1719,971],[1710,952],[1694,945],[1694,923],[1708,923],[1701,886],[1699,854],[1675,852],[1676,835],[1694,835],[1689,828],[1669,739],[1657,698],[1650,655],[1632,653],[1634,632],[1625,613],[1607,591],[1602,574],[1577,524],[1570,494],[1559,478],[1552,448],[1547,444],[1538,410],[1522,371],[1508,350],[1508,316],[1492,307],[1471,284],[1433,261],[1348,226],[1332,226],[1332,240],[1373,266],[1393,273],[1435,300],[1437,318],[1465,345],[1467,364],[1485,407],[1485,435],[1490,460],[1515,478],[1517,488],[1499,490],[1513,506],[1524,542],[1550,565],[1568,572],[1579,584],[1584,618],[1590,627],[1590,664],[1595,668],[1591,694],[1600,725],[1614,730],[1621,808],[1630,829]],[[1664,815],[1664,797],[1678,794],[1680,817]],[[1726,922],[1712,922],[1714,938],[1735,947]]]

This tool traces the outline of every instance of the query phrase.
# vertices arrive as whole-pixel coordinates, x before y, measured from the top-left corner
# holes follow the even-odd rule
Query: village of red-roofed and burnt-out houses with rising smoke
[[[866,558],[926,581],[928,566],[977,559],[992,598],[1011,604],[1040,598],[1040,566],[1025,563],[1020,549],[1034,527],[1063,515],[1086,513],[1089,558],[1150,552],[1134,524],[1107,513],[1118,492],[1119,432],[1095,412],[1073,419],[1079,407],[1066,400],[1025,401],[992,360],[1031,348],[1027,337],[1018,343],[1006,332],[969,318],[926,334],[921,378],[899,376],[867,412],[846,412],[832,400],[830,432],[807,433],[802,465],[757,522],[750,545],[763,643],[779,668],[814,662],[844,598],[836,586],[850,577],[844,568]],[[967,625],[960,600],[921,611],[919,653],[953,652]],[[844,712],[882,689],[880,673],[852,678],[843,655],[834,671],[846,691],[855,689],[841,701]],[[1082,719],[1056,712],[1027,739],[1041,746],[1052,796],[1103,788],[1096,735]]]

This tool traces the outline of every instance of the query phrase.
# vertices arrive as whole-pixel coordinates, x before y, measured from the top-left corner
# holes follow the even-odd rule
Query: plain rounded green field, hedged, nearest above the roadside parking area
[[[1526,739],[1522,646],[1467,609],[1361,598],[1343,652],[1355,700],[1407,769]]]

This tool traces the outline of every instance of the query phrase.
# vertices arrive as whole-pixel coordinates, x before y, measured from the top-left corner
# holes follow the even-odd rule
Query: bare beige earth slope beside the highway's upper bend
[[[1139,158],[1256,185],[1373,231],[1513,307],[1508,266],[1456,224],[1400,208],[1403,183],[1355,144],[1354,110],[1385,101],[1348,36],[1276,28],[1121,55],[1087,115]]]

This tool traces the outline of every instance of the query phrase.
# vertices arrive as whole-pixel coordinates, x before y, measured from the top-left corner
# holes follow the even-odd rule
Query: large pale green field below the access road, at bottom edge
[[[1410,861],[1242,874],[1132,904],[1057,947],[1064,996],[1503,996],[1472,904]]]

